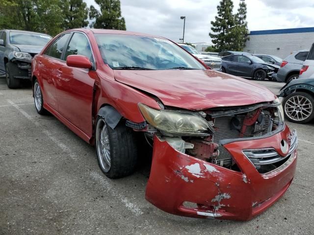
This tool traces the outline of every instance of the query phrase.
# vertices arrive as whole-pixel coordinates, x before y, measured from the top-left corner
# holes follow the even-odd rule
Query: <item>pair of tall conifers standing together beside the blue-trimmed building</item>
[[[209,36],[218,51],[242,51],[245,46],[248,36],[245,0],[240,0],[235,15],[232,13],[233,7],[232,0],[221,0],[215,21],[211,21],[213,33],[209,33]]]

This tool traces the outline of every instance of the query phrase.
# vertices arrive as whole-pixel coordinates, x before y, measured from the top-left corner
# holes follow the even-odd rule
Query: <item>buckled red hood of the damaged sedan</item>
[[[115,70],[115,79],[156,95],[164,105],[189,110],[272,101],[263,86],[214,70]]]

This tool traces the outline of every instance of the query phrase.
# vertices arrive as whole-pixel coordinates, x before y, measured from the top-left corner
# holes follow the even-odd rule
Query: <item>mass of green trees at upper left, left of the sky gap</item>
[[[88,25],[83,0],[0,0],[0,29],[20,29],[52,36]]]

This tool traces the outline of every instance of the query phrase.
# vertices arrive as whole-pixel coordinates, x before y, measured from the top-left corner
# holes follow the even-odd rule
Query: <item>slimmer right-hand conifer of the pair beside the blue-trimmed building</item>
[[[246,13],[245,0],[240,0],[239,8],[235,14],[235,27],[232,29],[234,38],[232,43],[233,50],[242,51],[248,39],[249,30],[247,28]]]

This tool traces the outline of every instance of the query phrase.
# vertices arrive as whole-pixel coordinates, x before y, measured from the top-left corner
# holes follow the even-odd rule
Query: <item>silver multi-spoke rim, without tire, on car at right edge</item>
[[[294,95],[286,101],[285,113],[291,120],[303,121],[312,115],[313,104],[303,95]]]

